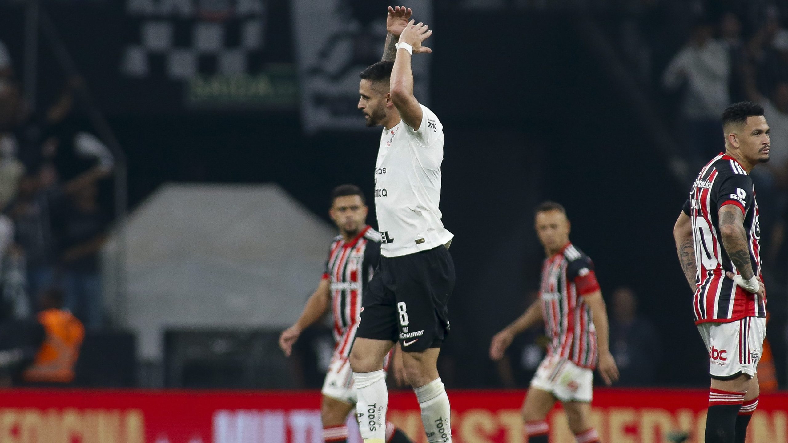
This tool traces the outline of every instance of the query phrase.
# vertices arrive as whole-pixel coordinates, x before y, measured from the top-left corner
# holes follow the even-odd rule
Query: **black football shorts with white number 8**
[[[400,341],[405,352],[440,348],[449,330],[448,298],[455,283],[444,245],[382,257],[362,300],[356,337]]]

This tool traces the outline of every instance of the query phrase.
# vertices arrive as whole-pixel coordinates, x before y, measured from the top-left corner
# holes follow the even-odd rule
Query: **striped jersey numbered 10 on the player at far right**
[[[744,214],[749,259],[753,271],[760,276],[760,224],[753,180],[735,158],[719,154],[701,169],[683,207],[684,214],[692,219],[695,242],[697,285],[693,313],[696,324],[766,316],[766,301],[758,303],[752,294],[725,275],[726,271],[738,274],[719,232],[719,208],[729,204]]]

